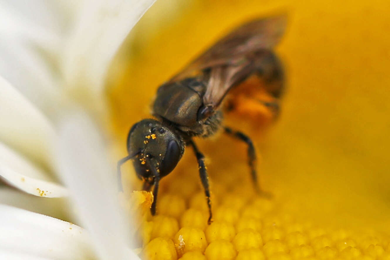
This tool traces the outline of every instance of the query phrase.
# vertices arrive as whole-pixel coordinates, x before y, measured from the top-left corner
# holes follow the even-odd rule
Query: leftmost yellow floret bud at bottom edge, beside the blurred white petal
[[[142,256],[148,260],[177,260],[177,253],[172,240],[162,237],[150,241],[142,251]]]

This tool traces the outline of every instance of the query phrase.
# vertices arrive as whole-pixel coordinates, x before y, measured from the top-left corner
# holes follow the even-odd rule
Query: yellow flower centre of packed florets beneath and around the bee
[[[155,8],[158,5],[154,6]],[[195,138],[206,155],[213,223],[190,148],[161,180],[156,216],[138,232],[143,259],[387,259],[390,97],[389,3],[377,1],[193,1],[164,24],[151,9],[109,82],[118,157],[135,122],[150,118],[156,89],[226,32],[287,12],[276,53],[286,68],[281,115],[267,131],[224,124],[252,137],[261,186],[254,193],[246,146],[218,133]],[[127,51],[129,47],[127,46]],[[137,99],[133,99],[137,97]],[[140,189],[124,165],[124,197]]]

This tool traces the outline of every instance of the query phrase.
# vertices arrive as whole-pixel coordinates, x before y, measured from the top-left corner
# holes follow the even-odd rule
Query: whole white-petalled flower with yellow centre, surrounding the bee
[[[153,3],[0,1],[0,259],[390,259],[390,2]],[[158,86],[232,28],[280,13],[280,116],[261,131],[250,114],[223,121],[254,141],[272,198],[222,132],[194,138],[210,225],[190,148],[155,216],[131,163],[118,194],[116,162]]]

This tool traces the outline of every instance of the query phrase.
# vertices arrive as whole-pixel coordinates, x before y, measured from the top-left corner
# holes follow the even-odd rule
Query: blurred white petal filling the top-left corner
[[[0,75],[50,112],[61,99],[53,69],[61,40],[59,14],[43,2],[0,2]]]

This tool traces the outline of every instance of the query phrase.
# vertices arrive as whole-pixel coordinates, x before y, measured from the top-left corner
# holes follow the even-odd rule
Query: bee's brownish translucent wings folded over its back
[[[282,37],[287,17],[274,16],[250,21],[223,37],[187,65],[169,82],[204,72],[208,87],[204,104],[216,107],[227,91],[248,76],[255,66],[255,53],[271,49]]]

